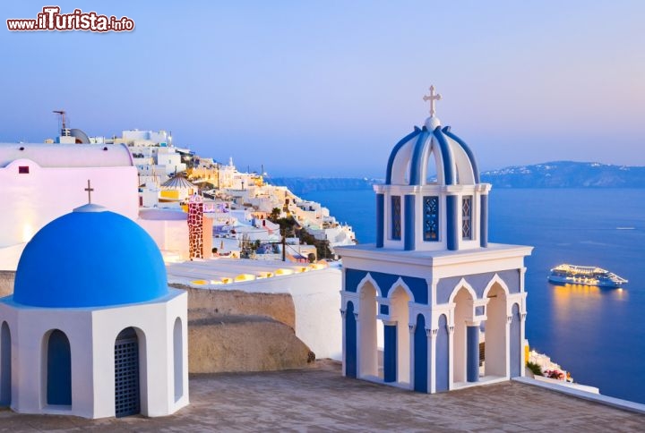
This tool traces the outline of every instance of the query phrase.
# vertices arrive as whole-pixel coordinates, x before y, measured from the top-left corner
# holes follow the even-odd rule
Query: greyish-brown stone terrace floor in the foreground
[[[340,366],[193,375],[175,415],[83,420],[0,411],[0,431],[645,431],[645,415],[516,382],[424,395],[343,378]]]

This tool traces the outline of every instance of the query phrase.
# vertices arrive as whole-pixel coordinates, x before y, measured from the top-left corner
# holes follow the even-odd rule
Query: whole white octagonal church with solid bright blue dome
[[[84,418],[175,412],[188,404],[186,311],[148,233],[75,208],[31,239],[0,300],[0,404]]]

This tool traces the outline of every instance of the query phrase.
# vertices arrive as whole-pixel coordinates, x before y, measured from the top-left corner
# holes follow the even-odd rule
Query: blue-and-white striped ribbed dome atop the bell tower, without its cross
[[[440,185],[477,184],[477,161],[469,146],[430,117],[422,128],[405,136],[392,149],[385,184],[426,184],[428,162],[434,155],[437,183]]]

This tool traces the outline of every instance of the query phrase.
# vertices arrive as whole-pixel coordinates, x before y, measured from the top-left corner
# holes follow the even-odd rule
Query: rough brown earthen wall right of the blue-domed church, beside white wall
[[[188,292],[188,370],[191,373],[298,369],[315,353],[297,338],[288,293],[193,289]]]

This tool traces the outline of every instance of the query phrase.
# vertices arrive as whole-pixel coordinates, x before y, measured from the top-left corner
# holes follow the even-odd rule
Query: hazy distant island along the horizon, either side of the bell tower
[[[596,162],[555,161],[532,166],[509,166],[481,173],[495,188],[643,188],[645,166],[611,166]],[[274,185],[295,194],[314,191],[372,189],[383,179],[353,177],[270,177]]]

